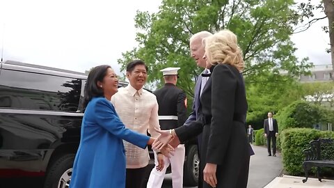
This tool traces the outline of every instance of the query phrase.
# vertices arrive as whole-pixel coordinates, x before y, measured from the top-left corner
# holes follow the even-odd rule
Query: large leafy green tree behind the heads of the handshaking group
[[[138,47],[118,60],[125,69],[133,58],[149,67],[148,81],[162,81],[161,70],[180,67],[178,86],[193,97],[194,81],[200,68],[191,59],[189,38],[198,31],[212,33],[230,29],[237,34],[244,52],[246,86],[284,83],[310,68],[308,59],[298,61],[289,36],[299,15],[292,0],[163,0],[159,12],[138,11],[135,17]],[[286,75],[280,75],[285,70]],[[161,82],[160,82],[161,83]],[[190,105],[189,105],[190,106]]]

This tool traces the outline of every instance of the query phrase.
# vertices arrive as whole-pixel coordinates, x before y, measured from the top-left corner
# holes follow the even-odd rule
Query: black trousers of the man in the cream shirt
[[[125,181],[126,188],[141,188],[145,179],[145,169],[147,166],[140,169],[127,169],[127,179]]]

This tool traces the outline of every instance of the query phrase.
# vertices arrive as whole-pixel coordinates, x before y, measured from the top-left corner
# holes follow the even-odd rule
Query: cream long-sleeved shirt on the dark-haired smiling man
[[[154,94],[143,88],[136,91],[129,84],[125,88],[118,88],[118,93],[111,97],[111,103],[127,128],[141,134],[148,131],[153,137],[159,136],[159,133],[154,131],[154,127],[160,130],[159,107]],[[127,141],[123,143],[127,155],[127,169],[139,169],[148,165],[148,148],[142,149]]]

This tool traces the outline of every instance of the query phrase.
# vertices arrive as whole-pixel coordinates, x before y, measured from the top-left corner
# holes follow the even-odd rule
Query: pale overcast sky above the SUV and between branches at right
[[[0,55],[22,61],[84,72],[109,64],[120,72],[117,59],[135,47],[136,10],[156,12],[159,0],[1,0]],[[321,16],[321,15],[320,15]],[[296,56],[315,64],[331,63],[325,52],[324,19],[292,36]]]

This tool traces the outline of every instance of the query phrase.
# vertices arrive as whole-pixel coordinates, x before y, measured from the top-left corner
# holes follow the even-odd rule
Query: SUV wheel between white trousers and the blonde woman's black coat
[[[200,158],[196,145],[189,146],[186,153],[186,161],[184,162],[183,181],[186,186],[198,185],[198,171],[200,169]]]

